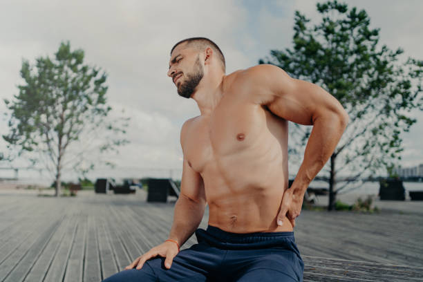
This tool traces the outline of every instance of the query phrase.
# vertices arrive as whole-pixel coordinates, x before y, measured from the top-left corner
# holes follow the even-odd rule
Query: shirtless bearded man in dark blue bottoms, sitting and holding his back
[[[295,218],[346,128],[346,111],[321,87],[276,66],[225,75],[223,53],[202,37],[173,46],[167,75],[201,113],[182,125],[169,240],[106,281],[302,281]],[[313,125],[290,189],[288,120]],[[207,204],[209,226],[198,229]],[[194,232],[198,244],[179,252]]]

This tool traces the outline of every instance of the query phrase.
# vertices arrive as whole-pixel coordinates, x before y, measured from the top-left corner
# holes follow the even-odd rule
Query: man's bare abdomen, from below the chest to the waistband
[[[271,156],[271,154],[269,154]],[[245,157],[245,156],[244,156]],[[282,156],[237,160],[225,169],[208,167],[203,173],[209,205],[209,225],[227,232],[292,231],[286,218],[276,224],[283,191],[288,188],[288,169]]]

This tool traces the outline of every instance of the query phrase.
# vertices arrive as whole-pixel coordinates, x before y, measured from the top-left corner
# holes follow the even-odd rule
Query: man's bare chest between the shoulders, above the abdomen
[[[275,141],[275,136],[282,138],[287,134],[276,125],[281,121],[258,104],[222,104],[212,115],[194,120],[185,158],[198,172],[216,164],[222,167],[234,160],[254,158]]]

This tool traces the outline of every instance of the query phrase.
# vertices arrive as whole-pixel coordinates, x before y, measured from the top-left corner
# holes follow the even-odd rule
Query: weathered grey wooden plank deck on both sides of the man
[[[0,281],[101,281],[122,270],[169,234],[173,203],[145,199],[0,194]],[[423,281],[423,213],[303,211],[294,234],[304,281]]]

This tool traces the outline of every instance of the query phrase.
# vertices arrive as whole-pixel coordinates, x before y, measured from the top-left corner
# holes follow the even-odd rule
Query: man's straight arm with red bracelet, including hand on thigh
[[[180,133],[180,143],[182,151],[184,151],[184,140],[189,131],[189,122],[187,120],[182,125]],[[185,153],[184,153],[185,156]],[[182,168],[182,180],[180,183],[180,195],[175,204],[173,214],[173,224],[169,234],[169,239],[178,242],[181,246],[189,236],[191,236],[200,225],[205,211],[206,199],[203,178],[200,173],[194,171],[186,158]],[[149,252],[139,256],[130,265],[125,267],[129,270],[136,266],[138,270],[141,269],[145,261],[154,256],[163,256],[166,258],[164,265],[169,269],[173,258],[178,254],[178,246],[171,241],[165,241],[161,245],[153,247]]]

